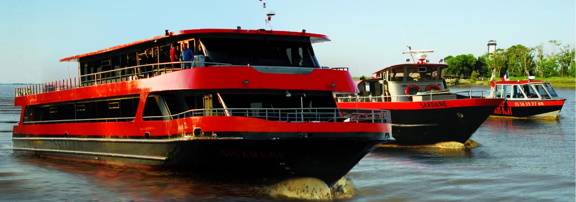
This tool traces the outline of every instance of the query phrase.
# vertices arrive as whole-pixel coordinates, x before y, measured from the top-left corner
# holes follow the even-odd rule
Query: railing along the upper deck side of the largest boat
[[[194,62],[194,61],[138,65],[134,67],[112,69],[109,71],[89,73],[82,76],[70,77],[68,79],[19,87],[14,89],[14,96],[18,97],[25,95],[35,95],[35,94],[42,94],[45,92],[63,91],[86,86],[94,86],[98,84],[145,79],[149,77],[158,76],[164,73],[179,71],[181,70],[181,68],[174,68],[174,67],[177,65],[184,66],[184,64],[190,64],[191,68],[204,67],[204,66],[218,67],[224,65],[232,66],[232,64],[225,64],[225,63],[206,63],[206,62]],[[149,70],[147,71],[147,69]]]

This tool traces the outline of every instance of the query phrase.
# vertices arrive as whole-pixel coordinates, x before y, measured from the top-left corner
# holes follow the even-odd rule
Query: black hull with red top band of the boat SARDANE
[[[486,121],[503,99],[475,98],[431,102],[348,102],[338,107],[390,110],[392,135],[397,143],[464,143]]]

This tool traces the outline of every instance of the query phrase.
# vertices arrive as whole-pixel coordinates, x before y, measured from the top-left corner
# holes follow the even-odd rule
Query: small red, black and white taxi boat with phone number
[[[560,98],[552,84],[534,80],[498,81],[497,98],[505,98],[492,115],[517,118],[556,118],[566,99]]]

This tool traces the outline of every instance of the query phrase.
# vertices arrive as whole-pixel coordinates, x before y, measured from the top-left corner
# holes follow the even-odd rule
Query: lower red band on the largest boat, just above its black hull
[[[150,136],[194,133],[200,128],[206,132],[306,132],[306,133],[349,133],[388,131],[389,123],[336,123],[336,122],[277,122],[240,116],[203,116],[171,121],[134,121],[103,123],[59,123],[45,125],[14,126],[17,134],[62,134],[104,136]]]

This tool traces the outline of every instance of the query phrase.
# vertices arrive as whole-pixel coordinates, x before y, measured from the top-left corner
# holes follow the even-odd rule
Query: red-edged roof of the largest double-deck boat
[[[97,54],[109,52],[112,50],[126,48],[126,47],[132,46],[132,45],[142,44],[144,42],[158,40],[160,38],[178,36],[178,35],[183,35],[183,34],[199,34],[199,33],[241,33],[241,34],[269,34],[269,35],[284,35],[284,36],[305,36],[305,37],[310,37],[310,42],[312,42],[312,43],[330,41],[328,39],[328,36],[325,36],[322,34],[305,33],[305,32],[272,31],[272,30],[265,30],[265,29],[251,29],[251,30],[249,30],[249,29],[188,29],[188,30],[180,30],[180,31],[176,31],[176,32],[169,32],[168,34],[158,35],[158,36],[154,36],[151,38],[146,38],[143,40],[130,42],[130,43],[124,44],[124,45],[112,46],[110,48],[105,48],[105,49],[97,50],[97,51],[90,52],[90,53],[84,53],[82,55],[66,57],[66,58],[60,59],[60,61],[61,62],[62,61],[69,61],[69,62],[70,61],[78,61],[78,59],[81,57],[97,55]]]

